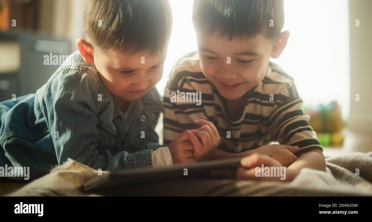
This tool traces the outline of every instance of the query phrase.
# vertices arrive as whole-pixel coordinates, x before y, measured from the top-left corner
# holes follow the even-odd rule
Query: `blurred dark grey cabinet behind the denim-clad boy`
[[[1,47],[1,44],[3,47]],[[35,93],[44,85],[59,65],[44,65],[45,55],[70,55],[71,42],[45,37],[33,32],[0,32],[0,54],[14,54],[6,51],[7,44],[16,44],[19,68],[11,72],[0,72],[0,101],[16,96]],[[8,49],[9,50],[9,49]],[[0,61],[0,70],[6,61]]]

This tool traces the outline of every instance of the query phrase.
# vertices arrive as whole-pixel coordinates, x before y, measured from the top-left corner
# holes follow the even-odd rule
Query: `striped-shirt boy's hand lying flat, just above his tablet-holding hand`
[[[298,149],[299,149],[298,146],[271,144],[261,146],[257,149],[249,150],[249,153],[271,155],[271,157],[279,161],[280,164],[288,167],[297,159],[297,156],[294,155],[294,153],[296,153]]]

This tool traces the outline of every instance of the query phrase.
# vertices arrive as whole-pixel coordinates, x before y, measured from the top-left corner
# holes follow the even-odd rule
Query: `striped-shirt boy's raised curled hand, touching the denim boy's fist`
[[[219,141],[221,140],[217,128],[213,123],[206,120],[198,120],[196,124],[201,127],[192,132],[201,139],[202,144],[201,146],[195,146],[196,141],[191,140],[194,144],[195,159],[197,161],[212,159]]]

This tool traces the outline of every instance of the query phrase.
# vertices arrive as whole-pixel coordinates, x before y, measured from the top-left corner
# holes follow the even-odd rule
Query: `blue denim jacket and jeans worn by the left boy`
[[[152,167],[162,102],[155,88],[136,102],[139,112],[124,122],[94,64],[76,51],[35,94],[0,103],[0,166],[30,167],[33,179],[67,158],[106,171]]]

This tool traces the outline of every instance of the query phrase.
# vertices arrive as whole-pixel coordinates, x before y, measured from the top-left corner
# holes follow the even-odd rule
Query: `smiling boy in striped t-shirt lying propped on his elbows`
[[[172,140],[193,129],[200,142],[187,141],[194,146],[190,158],[248,156],[238,178],[257,179],[251,168],[261,164],[288,167],[286,181],[302,168],[325,171],[323,149],[302,112],[294,79],[269,61],[279,57],[289,37],[281,32],[283,0],[195,0],[193,23],[198,51],[176,63],[164,91],[164,144],[170,153],[180,145]],[[174,98],[183,93],[199,95],[201,103]],[[280,145],[267,145],[274,141]]]

